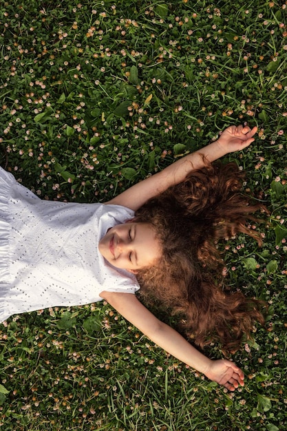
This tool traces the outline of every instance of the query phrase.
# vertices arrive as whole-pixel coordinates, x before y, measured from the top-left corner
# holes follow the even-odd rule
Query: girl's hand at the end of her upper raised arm
[[[224,149],[225,153],[240,151],[253,143],[253,136],[257,132],[257,127],[251,129],[248,126],[230,126],[222,132],[217,139],[217,144]]]

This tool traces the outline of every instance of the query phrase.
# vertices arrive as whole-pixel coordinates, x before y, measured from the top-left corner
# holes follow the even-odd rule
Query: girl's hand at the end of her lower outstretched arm
[[[239,385],[244,386],[244,372],[227,359],[212,361],[209,370],[204,374],[228,390],[235,390]]]

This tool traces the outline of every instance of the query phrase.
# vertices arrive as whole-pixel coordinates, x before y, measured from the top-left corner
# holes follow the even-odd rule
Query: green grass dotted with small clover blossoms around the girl
[[[203,379],[107,304],[45,310],[1,326],[3,430],[286,428],[286,12],[265,0],[1,2],[1,165],[38,196],[108,200],[247,122],[255,143],[225,161],[270,209],[261,249],[241,235],[225,253],[228,284],[270,304],[266,329],[233,355],[242,390]]]

